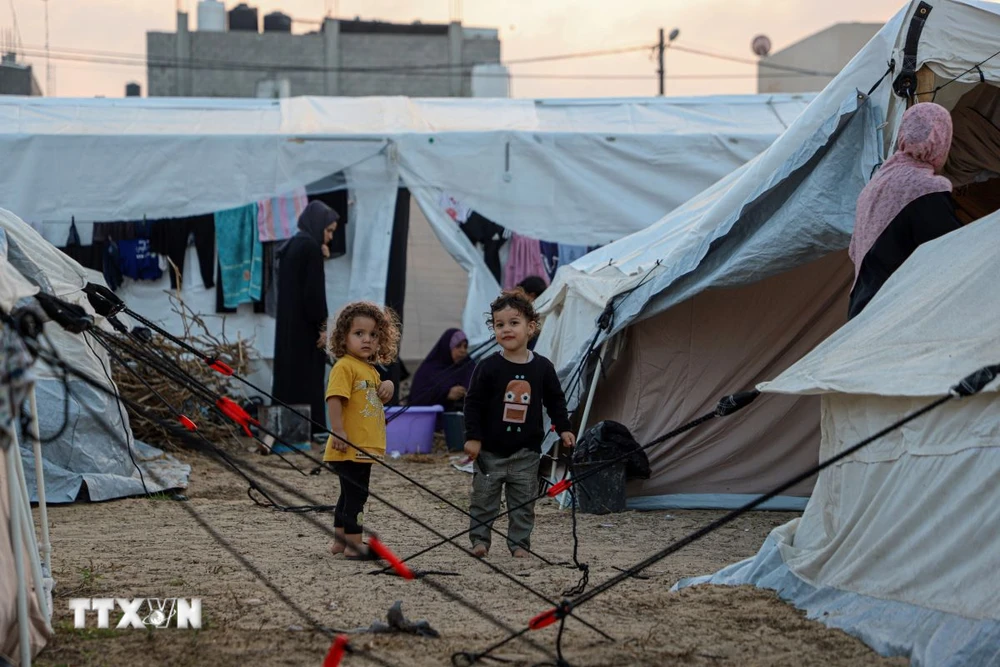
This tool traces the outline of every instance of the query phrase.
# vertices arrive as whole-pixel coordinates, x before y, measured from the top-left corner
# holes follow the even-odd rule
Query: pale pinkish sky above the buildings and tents
[[[48,0],[49,42],[53,54],[102,58],[121,54],[126,64],[94,63],[53,58],[55,91],[60,97],[122,97],[128,81],[142,84],[146,70],[146,32],[173,31],[177,4],[187,6],[189,25],[196,28],[196,0]],[[295,18],[319,19],[327,3],[339,4],[341,17],[425,23],[447,22],[454,0],[257,0],[260,16],[281,10]],[[226,0],[226,8],[238,0]],[[464,0],[463,22],[470,27],[500,29],[502,58],[520,59],[549,54],[652,44],[657,29],[680,30],[677,45],[752,58],[755,35],[771,38],[773,50],[796,42],[838,22],[885,22],[905,0]],[[0,3],[0,26],[6,35],[14,26],[46,88],[45,0]],[[315,26],[299,24],[296,32]],[[134,64],[133,64],[134,63]],[[405,63],[401,54],[400,63]],[[703,56],[673,52],[667,56],[668,95],[756,92],[756,67]],[[650,53],[586,58],[511,68],[516,97],[606,97],[656,94],[656,63]],[[548,80],[518,74],[614,75],[646,77],[621,80]],[[671,76],[734,74],[732,79],[676,79]]]

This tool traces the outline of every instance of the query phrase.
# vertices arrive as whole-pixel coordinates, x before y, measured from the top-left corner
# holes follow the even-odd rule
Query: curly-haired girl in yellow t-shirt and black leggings
[[[399,324],[390,308],[366,301],[348,304],[337,316],[327,351],[337,360],[326,388],[330,430],[324,461],[340,479],[340,497],[333,514],[337,540],[334,555],[348,559],[367,556],[361,541],[372,464],[385,456],[385,410],[395,391],[379,381],[373,364],[388,364],[399,349]],[[350,444],[348,444],[350,443]]]

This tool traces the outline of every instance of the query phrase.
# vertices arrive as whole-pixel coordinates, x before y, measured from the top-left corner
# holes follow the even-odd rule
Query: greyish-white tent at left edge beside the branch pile
[[[0,209],[0,229],[8,244],[6,257],[13,270],[26,281],[41,283],[45,290],[51,289],[56,296],[93,314],[81,290],[88,281],[100,282],[97,274],[53,248],[35,230],[3,209]],[[110,365],[102,348],[81,335],[67,333],[53,322],[45,323],[45,334],[62,360],[107,391],[116,391],[107,377]],[[49,502],[73,502],[84,483],[90,499],[95,501],[142,494],[142,479],[132,457],[143,468],[150,492],[187,486],[190,466],[133,440],[128,415],[108,393],[83,380],[64,378],[62,371],[44,363],[35,365],[34,374],[41,436],[43,440],[55,438],[42,447]],[[128,438],[131,456],[109,433],[121,433]],[[35,502],[35,460],[26,441],[21,443],[21,457],[28,473],[31,500]]]

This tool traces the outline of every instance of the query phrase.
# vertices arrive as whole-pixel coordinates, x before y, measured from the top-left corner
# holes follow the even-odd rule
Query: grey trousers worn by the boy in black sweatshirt
[[[472,530],[469,538],[473,546],[490,546],[490,528],[500,512],[500,494],[506,488],[507,509],[514,510],[507,515],[507,548],[512,552],[518,547],[531,548],[531,531],[535,527],[534,498],[538,495],[540,462],[538,452],[527,449],[507,458],[487,451],[479,452],[472,477],[472,501],[469,505],[469,514],[473,517],[470,520]],[[527,504],[518,507],[522,503]],[[480,525],[479,522],[483,524]]]

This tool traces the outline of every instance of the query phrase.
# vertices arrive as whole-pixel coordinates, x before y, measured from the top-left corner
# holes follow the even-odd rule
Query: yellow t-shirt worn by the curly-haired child
[[[336,396],[347,399],[343,402],[344,431],[351,444],[361,447],[379,459],[385,458],[385,409],[378,397],[380,384],[378,371],[360,359],[345,356],[338,359],[330,372],[326,386],[326,398]],[[324,461],[373,461],[350,445],[346,452],[333,448],[333,436],[326,441]]]

